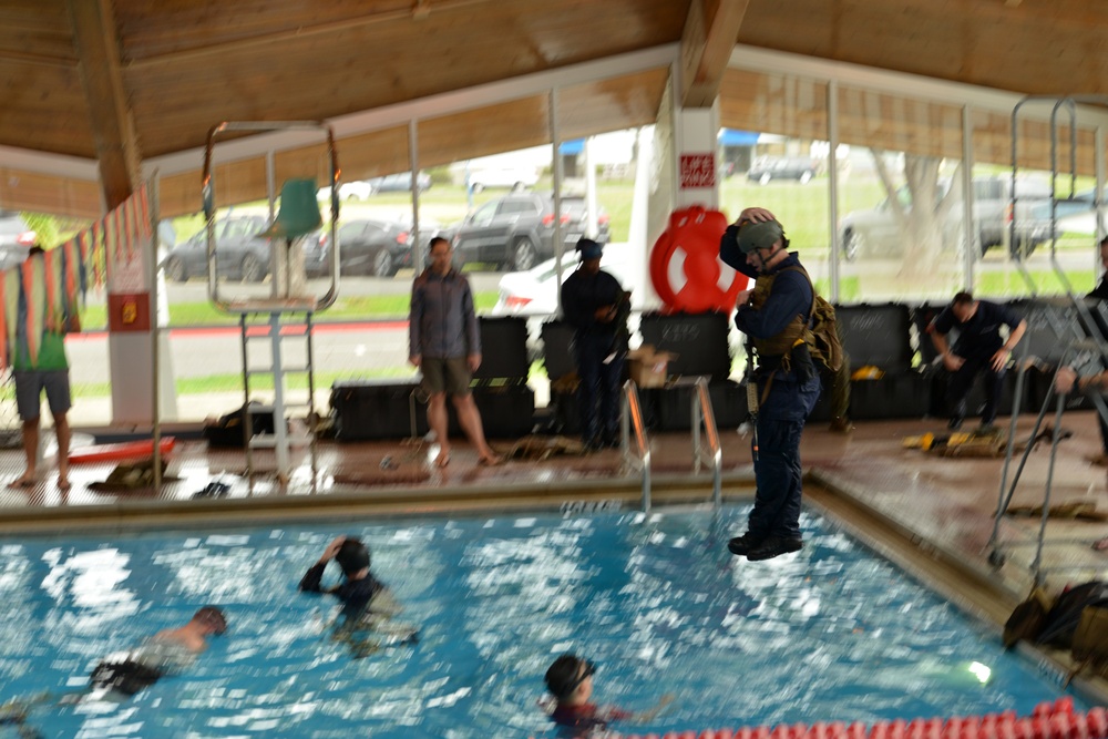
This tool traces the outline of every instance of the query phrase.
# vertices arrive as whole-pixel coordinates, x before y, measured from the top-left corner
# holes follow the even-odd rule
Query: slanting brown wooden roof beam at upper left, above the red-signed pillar
[[[69,0],[100,181],[111,211],[138,186],[142,156],[120,68],[112,0]]]

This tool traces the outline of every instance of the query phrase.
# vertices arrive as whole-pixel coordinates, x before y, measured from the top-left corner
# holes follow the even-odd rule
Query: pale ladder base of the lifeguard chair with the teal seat
[[[254,462],[254,450],[274,450],[276,474],[278,482],[287,484],[289,471],[293,469],[290,460],[290,447],[296,442],[306,444],[310,452],[312,476],[317,471],[316,464],[316,427],[318,415],[316,413],[316,379],[312,365],[311,348],[311,311],[304,314],[302,322],[284,322],[285,316],[293,314],[270,312],[265,322],[250,324],[250,314],[243,314],[239,317],[239,330],[243,346],[243,434],[244,449],[246,450],[246,472],[253,479],[256,470]],[[304,362],[287,366],[286,359],[289,352],[285,350],[286,342],[304,342]],[[258,363],[257,357],[252,357],[249,345],[252,342],[265,342],[260,352],[265,358],[263,363]],[[299,358],[299,357],[298,357]],[[307,398],[299,402],[290,402],[288,388],[285,383],[287,376],[304,376],[307,378]],[[250,378],[266,376],[273,378],[274,402],[273,419],[274,430],[271,433],[254,432],[254,410],[250,404]],[[296,428],[296,417],[289,415],[290,410],[299,408],[304,413],[305,424]],[[297,438],[299,437],[299,439]]]

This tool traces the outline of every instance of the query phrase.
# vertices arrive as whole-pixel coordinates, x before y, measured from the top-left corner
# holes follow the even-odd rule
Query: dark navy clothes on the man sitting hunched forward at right
[[[962,367],[951,373],[946,386],[946,401],[951,408],[951,419],[961,421],[966,417],[966,397],[973,387],[977,374],[985,373],[985,409],[981,413],[981,422],[992,423],[996,418],[996,408],[1004,390],[1006,368],[999,371],[993,369],[993,355],[1004,346],[1001,338],[1001,326],[1008,330],[1019,326],[1019,316],[1004,306],[988,300],[978,300],[977,310],[964,324],[958,322],[951,306],[935,316],[927,327],[927,332],[950,333],[958,329],[958,338],[951,351],[964,359]]]

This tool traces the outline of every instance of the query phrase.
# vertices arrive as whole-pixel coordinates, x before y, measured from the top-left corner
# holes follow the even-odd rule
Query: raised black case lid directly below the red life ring
[[[638,330],[643,343],[677,355],[669,361],[670,377],[707,374],[726,380],[731,374],[726,314],[643,314]]]

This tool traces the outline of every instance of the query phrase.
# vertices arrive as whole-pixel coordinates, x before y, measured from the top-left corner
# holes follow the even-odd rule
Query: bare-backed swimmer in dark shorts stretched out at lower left
[[[0,706],[0,726],[16,727],[24,739],[41,737],[27,725],[33,707],[51,701],[72,705],[86,699],[126,700],[161,678],[191,667],[196,657],[207,649],[208,637],[219,636],[226,630],[227,618],[223,610],[204,606],[184,626],[162,629],[134,649],[102,659],[89,676],[89,687],[84,690],[62,696],[44,692]]]

